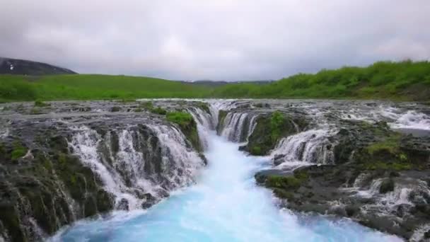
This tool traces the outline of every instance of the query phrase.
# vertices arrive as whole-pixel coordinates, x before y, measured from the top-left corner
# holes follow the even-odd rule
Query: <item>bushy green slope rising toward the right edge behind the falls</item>
[[[250,83],[216,88],[223,98],[359,98],[430,100],[430,62],[376,62],[317,74],[297,74],[263,86]]]

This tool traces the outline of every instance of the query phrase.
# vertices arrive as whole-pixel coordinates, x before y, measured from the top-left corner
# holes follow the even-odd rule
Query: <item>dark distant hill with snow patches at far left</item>
[[[40,76],[52,74],[76,74],[76,72],[42,62],[0,57],[0,74]]]

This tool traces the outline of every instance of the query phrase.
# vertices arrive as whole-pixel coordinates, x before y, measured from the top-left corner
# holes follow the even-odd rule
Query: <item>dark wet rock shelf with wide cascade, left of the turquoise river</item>
[[[7,103],[0,107],[0,240],[40,241],[66,224],[147,209],[194,182],[199,139],[166,119],[201,102]],[[163,113],[164,111],[164,113]],[[185,126],[197,135],[197,125]]]

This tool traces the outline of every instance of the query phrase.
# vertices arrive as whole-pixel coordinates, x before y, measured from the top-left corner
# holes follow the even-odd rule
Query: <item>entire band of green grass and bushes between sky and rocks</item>
[[[376,98],[430,100],[430,62],[376,62],[323,69],[267,84],[223,86],[149,77],[0,75],[0,101],[130,98]]]

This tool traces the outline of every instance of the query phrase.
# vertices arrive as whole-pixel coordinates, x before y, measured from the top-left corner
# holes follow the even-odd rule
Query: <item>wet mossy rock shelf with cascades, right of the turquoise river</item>
[[[232,113],[255,116],[255,128],[240,149],[269,156],[272,166],[256,173],[255,180],[281,198],[281,207],[349,217],[411,241],[426,239],[430,226],[429,107],[371,101],[249,100],[226,110],[225,117],[233,117]],[[281,125],[281,135],[274,141],[270,121],[275,112],[296,125]],[[228,123],[220,126],[228,127]],[[255,146],[264,148],[252,150]]]

